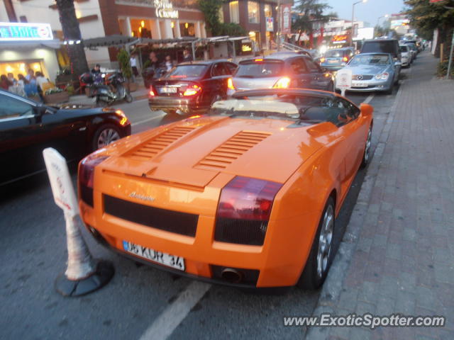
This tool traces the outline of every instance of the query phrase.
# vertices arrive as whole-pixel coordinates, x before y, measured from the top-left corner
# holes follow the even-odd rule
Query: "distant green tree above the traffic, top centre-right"
[[[327,23],[332,17],[337,17],[337,13],[329,13],[324,15],[323,12],[331,8],[328,4],[320,3],[319,0],[300,0],[295,11],[298,12],[297,19],[292,23],[299,36],[297,41],[304,31],[311,33],[313,30],[312,23],[314,21]]]

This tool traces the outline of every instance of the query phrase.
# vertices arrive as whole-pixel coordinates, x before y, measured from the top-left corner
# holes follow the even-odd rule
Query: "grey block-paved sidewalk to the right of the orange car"
[[[454,81],[423,52],[402,84],[314,316],[442,315],[443,328],[312,327],[306,339],[454,339]]]

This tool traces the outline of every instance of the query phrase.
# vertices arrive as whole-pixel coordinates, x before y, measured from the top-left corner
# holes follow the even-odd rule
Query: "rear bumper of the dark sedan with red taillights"
[[[180,111],[184,114],[204,113],[209,106],[199,103],[196,98],[179,98],[179,97],[149,97],[148,106],[151,111]]]

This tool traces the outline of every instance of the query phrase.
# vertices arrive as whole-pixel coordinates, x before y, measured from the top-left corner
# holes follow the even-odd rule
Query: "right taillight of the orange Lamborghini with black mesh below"
[[[262,245],[272,204],[282,184],[236,176],[221,191],[214,239]]]

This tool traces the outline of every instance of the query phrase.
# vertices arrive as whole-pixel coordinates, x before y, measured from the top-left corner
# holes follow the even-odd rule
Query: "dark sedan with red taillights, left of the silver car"
[[[237,65],[228,60],[183,62],[153,81],[148,103],[152,111],[204,113],[212,103],[226,98],[228,79]]]

